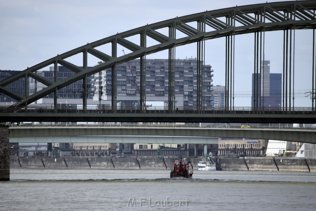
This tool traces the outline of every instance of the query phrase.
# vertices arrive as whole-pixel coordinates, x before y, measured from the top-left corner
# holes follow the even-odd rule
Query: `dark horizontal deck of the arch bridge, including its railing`
[[[221,122],[221,123],[314,123],[315,111],[302,110],[215,110],[213,109],[51,109],[0,108],[0,122]]]

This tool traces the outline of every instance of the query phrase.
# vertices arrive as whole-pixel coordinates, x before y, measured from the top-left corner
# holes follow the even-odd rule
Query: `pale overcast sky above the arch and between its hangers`
[[[0,0],[0,69],[25,70],[57,54],[133,28],[205,10],[265,3],[261,0]],[[295,31],[295,106],[311,106],[312,31]],[[225,39],[206,42],[205,63],[214,85],[225,85]],[[176,57],[196,57],[196,45],[176,49]],[[118,56],[119,55],[118,49]],[[167,59],[167,53],[147,58]],[[270,72],[283,71],[283,32],[265,33]],[[96,65],[94,64],[88,65]],[[251,105],[253,34],[235,37],[235,106]]]

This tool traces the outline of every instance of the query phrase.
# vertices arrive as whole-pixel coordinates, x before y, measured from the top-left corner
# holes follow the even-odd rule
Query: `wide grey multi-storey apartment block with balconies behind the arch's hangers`
[[[140,60],[131,60],[116,66],[117,106],[135,107],[140,104]],[[205,65],[202,76],[202,106],[214,106],[213,102],[213,70]],[[163,102],[168,106],[168,59],[146,59],[146,99],[145,101]],[[111,68],[94,75],[94,90],[100,93],[94,100],[111,105],[112,81]],[[197,60],[196,58],[175,60],[175,104],[176,107],[197,105]]]

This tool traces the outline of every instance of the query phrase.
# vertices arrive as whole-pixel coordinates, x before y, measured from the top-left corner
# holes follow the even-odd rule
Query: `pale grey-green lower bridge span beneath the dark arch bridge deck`
[[[149,143],[148,139],[150,138],[153,139],[150,143],[155,143],[155,140],[157,141],[156,143],[161,143],[161,140],[158,137],[162,137],[164,140],[163,143],[167,143],[166,141],[169,141],[169,143],[184,144],[194,143],[191,141],[197,139],[202,141],[203,137],[228,137],[316,143],[315,131],[306,129],[204,127],[10,127],[9,132],[10,142],[34,142],[42,139],[43,137],[46,137],[45,139],[47,141],[55,140],[53,137],[73,137],[69,138],[70,141],[68,140],[65,142],[71,143],[82,141],[88,143],[99,143],[100,141],[103,143],[106,139],[111,139],[111,143],[122,143],[122,141],[125,141],[125,143]],[[183,137],[188,138],[187,142],[185,142]],[[206,139],[204,141],[206,141]]]

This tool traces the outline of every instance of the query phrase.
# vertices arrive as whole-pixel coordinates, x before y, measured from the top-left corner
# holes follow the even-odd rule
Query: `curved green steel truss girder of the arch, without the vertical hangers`
[[[0,81],[0,92],[3,92],[17,100],[18,102],[15,103],[15,105],[27,105],[52,92],[55,92],[58,89],[81,80],[86,76],[103,71],[114,65],[121,64],[147,54],[166,50],[171,47],[186,45],[200,40],[225,37],[231,34],[238,35],[253,33],[260,30],[274,31],[288,29],[290,27],[292,29],[316,28],[315,10],[316,1],[262,3],[205,11],[202,13],[176,17],[170,20],[149,24],[126,32],[118,33],[92,43],[88,43],[87,45],[78,47],[61,55],[57,55],[54,58],[27,68],[26,70],[21,71],[12,77]],[[226,22],[223,20],[226,20]],[[206,24],[213,30],[206,31],[205,27],[202,27],[201,30],[199,30],[198,24],[196,28],[194,28],[188,25],[189,22]],[[238,26],[236,26],[236,23],[238,23]],[[161,28],[169,28],[174,31],[178,30],[187,36],[176,39],[171,37],[171,35],[167,36],[156,31]],[[143,37],[148,36],[158,41],[160,44],[143,47],[126,39],[136,34],[141,34],[141,43]],[[112,55],[107,55],[106,53],[95,49],[96,47],[108,43],[112,45]],[[131,50],[132,53],[117,57],[117,47],[114,46],[117,43]],[[83,53],[83,68],[64,60],[78,53]],[[86,65],[87,53],[102,59],[104,62],[88,69]],[[61,81],[57,81],[55,79],[55,81],[52,82],[43,77],[37,76],[36,73],[34,73],[48,65],[57,66],[58,64],[67,67],[75,74]],[[22,77],[25,77],[26,79],[27,77],[34,78],[38,82],[45,84],[47,87],[30,96],[27,96],[27,93],[25,94],[26,96],[19,96],[14,92],[4,88],[6,85]]]

